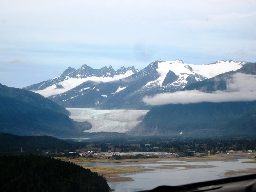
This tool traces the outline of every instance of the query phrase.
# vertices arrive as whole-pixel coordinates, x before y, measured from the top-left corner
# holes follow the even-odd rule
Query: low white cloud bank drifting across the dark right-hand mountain
[[[234,74],[227,81],[226,91],[205,93],[198,90],[186,90],[156,94],[153,97],[146,96],[142,100],[149,105],[254,101],[256,100],[256,75]]]

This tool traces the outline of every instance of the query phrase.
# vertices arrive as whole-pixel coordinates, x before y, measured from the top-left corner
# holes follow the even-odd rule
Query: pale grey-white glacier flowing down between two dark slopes
[[[125,133],[138,125],[148,110],[101,110],[91,108],[67,108],[74,121],[88,121],[92,124],[90,130],[84,132],[119,132]]]

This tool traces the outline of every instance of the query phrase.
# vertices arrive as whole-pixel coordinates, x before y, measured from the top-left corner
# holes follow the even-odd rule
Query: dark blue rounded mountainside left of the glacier
[[[76,136],[91,128],[75,122],[68,111],[43,96],[0,84],[0,132],[16,135]]]

